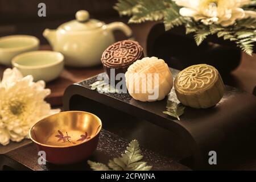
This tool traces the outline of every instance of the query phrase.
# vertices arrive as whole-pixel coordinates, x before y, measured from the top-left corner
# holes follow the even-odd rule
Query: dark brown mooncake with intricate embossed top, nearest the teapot
[[[101,62],[110,78],[111,69],[115,71],[114,76],[125,73],[131,64],[143,57],[143,48],[138,42],[122,40],[112,44],[103,52]]]

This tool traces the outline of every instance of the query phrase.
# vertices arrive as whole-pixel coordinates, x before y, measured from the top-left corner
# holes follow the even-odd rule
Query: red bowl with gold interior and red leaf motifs
[[[71,164],[88,158],[96,150],[101,119],[84,111],[65,111],[35,123],[30,138],[38,151],[46,152],[46,161]]]

